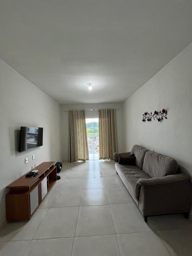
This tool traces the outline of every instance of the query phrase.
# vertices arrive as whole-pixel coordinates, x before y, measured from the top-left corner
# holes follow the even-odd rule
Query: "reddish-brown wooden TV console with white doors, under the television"
[[[57,180],[55,162],[43,162],[36,167],[38,174],[26,178],[23,175],[6,188],[7,221],[29,220],[43,198]]]

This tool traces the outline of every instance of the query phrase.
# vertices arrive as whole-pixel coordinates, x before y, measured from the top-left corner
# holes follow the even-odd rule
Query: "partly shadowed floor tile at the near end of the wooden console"
[[[0,241],[32,239],[47,211],[48,209],[37,209],[29,221],[9,222],[0,230]]]

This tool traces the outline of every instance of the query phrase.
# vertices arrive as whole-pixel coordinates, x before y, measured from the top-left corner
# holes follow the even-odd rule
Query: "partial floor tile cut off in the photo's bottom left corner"
[[[30,240],[0,242],[0,255],[1,256],[23,256],[30,242],[31,242]]]

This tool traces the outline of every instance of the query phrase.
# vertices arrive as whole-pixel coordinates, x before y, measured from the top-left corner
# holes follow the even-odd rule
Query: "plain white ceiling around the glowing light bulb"
[[[59,103],[122,102],[190,42],[191,0],[0,2],[0,57]]]

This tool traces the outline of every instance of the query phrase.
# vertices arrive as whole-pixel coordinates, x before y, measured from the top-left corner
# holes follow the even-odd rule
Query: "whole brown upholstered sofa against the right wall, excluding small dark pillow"
[[[136,165],[118,163],[119,156],[135,155]],[[191,177],[179,173],[177,162],[134,145],[131,152],[115,153],[115,169],[147,222],[148,216],[184,213],[192,205]]]

